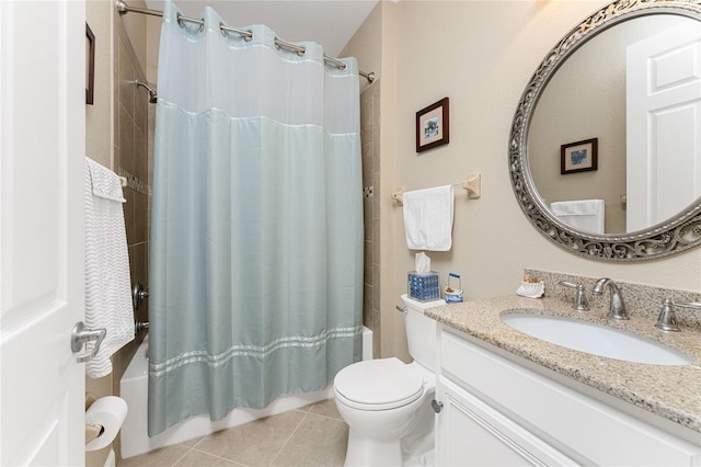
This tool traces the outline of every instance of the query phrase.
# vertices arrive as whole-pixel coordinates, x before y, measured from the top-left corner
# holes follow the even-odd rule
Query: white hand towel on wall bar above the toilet
[[[452,246],[452,185],[404,193],[404,230],[410,250],[448,251]]]

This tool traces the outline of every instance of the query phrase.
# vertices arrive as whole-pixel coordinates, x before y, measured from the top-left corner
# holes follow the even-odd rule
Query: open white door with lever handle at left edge
[[[0,465],[84,464],[83,1],[0,1]]]

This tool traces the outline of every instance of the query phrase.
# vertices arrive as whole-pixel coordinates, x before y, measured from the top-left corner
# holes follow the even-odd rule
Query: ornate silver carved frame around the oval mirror
[[[665,13],[701,22],[701,0],[616,0],[572,29],[547,55],[531,77],[514,115],[508,167],[516,200],[536,229],[575,254],[611,262],[653,260],[701,244],[701,197],[677,216],[627,234],[595,235],[558,219],[542,201],[531,176],[528,130],[545,86],[560,66],[589,38],[633,18]]]

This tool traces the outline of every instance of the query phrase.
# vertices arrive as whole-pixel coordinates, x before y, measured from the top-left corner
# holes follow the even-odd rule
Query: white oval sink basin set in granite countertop
[[[688,365],[693,361],[652,340],[590,322],[533,314],[503,315],[514,329],[553,344],[609,358],[651,365]]]

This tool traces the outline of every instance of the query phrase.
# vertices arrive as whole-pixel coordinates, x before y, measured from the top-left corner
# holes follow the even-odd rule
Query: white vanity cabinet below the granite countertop
[[[443,324],[438,343],[438,466],[701,466],[701,435],[686,441]]]

